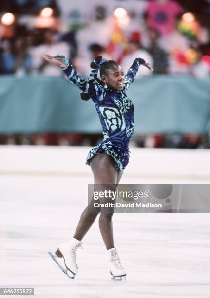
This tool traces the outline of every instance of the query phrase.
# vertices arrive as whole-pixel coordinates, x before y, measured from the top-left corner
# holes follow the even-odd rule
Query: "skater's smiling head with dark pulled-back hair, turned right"
[[[113,63],[113,65],[106,69],[103,74],[101,74],[101,80],[107,84],[107,87],[115,91],[120,91],[124,86],[124,73],[121,66],[118,63]]]

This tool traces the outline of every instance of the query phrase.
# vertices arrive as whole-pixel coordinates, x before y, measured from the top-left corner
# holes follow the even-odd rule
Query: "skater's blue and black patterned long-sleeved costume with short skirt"
[[[101,57],[100,61],[94,60],[95,68],[88,80],[78,75],[74,67],[69,65],[67,59],[63,58],[63,61],[66,67],[62,67],[62,69],[67,78],[82,91],[81,97],[83,95],[86,99],[91,98],[95,103],[102,125],[104,139],[88,153],[86,164],[89,165],[90,159],[95,154],[106,152],[113,158],[115,168],[123,171],[129,161],[128,145],[134,132],[134,105],[125,92],[134,81],[140,64],[145,61],[141,58],[134,60],[125,75],[122,91],[106,88],[96,79],[100,66],[106,62],[105,58]]]

